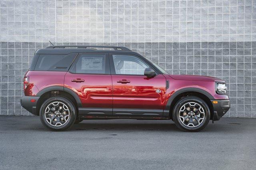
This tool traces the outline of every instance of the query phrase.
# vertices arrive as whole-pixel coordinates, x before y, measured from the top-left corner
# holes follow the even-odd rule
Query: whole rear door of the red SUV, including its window
[[[112,80],[108,54],[80,53],[67,72],[64,86],[78,94],[79,115],[112,115]]]

